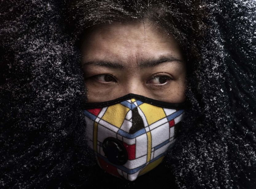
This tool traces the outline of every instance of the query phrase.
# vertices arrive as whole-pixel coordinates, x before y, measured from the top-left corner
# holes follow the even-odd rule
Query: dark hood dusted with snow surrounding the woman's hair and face
[[[86,145],[81,54],[66,24],[68,3],[1,1],[0,185],[255,188],[255,1],[201,4],[208,27],[187,79],[191,106],[181,136],[152,173],[127,182],[100,170]]]

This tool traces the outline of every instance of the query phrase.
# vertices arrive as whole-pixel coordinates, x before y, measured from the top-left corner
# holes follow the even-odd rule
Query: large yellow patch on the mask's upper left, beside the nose
[[[115,104],[108,107],[102,119],[120,128],[122,123],[124,122],[124,118],[128,111],[129,111],[129,108],[121,104]]]

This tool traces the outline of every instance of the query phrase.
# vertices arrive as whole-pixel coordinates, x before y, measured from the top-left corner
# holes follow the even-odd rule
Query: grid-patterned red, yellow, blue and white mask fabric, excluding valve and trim
[[[143,120],[144,127],[129,133],[136,117],[133,109]],[[179,121],[184,110],[166,109],[131,99],[116,105],[87,109],[84,111],[89,145],[97,154],[99,165],[116,176],[133,180],[156,167],[164,152],[174,143],[179,130]],[[114,165],[104,156],[102,143],[114,137],[123,142],[128,152],[124,165]]]

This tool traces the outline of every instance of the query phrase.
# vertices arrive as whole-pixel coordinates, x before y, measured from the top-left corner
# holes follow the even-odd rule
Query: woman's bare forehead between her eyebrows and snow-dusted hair
[[[182,59],[178,43],[150,22],[115,23],[95,28],[85,37],[82,54],[86,61],[138,63],[171,54]]]

